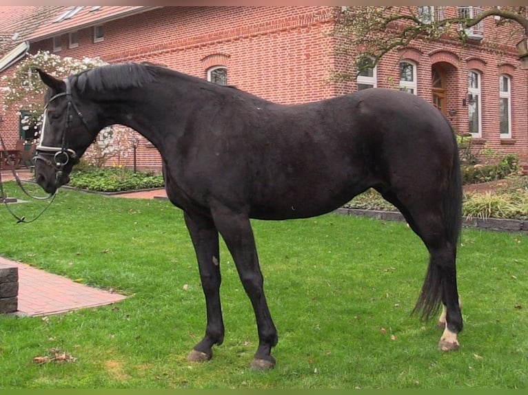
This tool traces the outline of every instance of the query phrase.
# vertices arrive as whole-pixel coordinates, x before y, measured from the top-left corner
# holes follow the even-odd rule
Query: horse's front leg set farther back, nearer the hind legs
[[[249,217],[227,209],[213,212],[214,223],[234,259],[244,290],[253,305],[258,329],[258,348],[251,368],[267,370],[275,365],[271,350],[278,341],[264,295],[264,280],[258,265],[258,256]]]

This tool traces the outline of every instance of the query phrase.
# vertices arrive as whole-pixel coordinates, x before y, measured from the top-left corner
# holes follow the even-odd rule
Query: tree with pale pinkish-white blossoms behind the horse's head
[[[4,100],[6,111],[17,111],[21,116],[22,129],[34,131],[31,140],[37,139],[44,111],[43,97],[46,87],[36,68],[45,70],[57,78],[65,78],[93,67],[105,65],[101,58],[74,59],[39,51],[28,54],[15,68],[11,76],[3,76]],[[119,133],[116,133],[119,130]],[[110,158],[124,158],[130,151],[129,137],[133,131],[126,128],[108,127],[103,129],[97,141],[86,151],[83,158],[88,164],[101,167]],[[31,133],[26,133],[26,136]],[[118,136],[119,135],[119,136]]]

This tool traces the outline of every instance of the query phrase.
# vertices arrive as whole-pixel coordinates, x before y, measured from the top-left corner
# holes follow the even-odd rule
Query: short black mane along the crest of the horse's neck
[[[141,87],[156,79],[159,66],[152,63],[118,63],[103,65],[72,76],[72,84],[81,92]]]

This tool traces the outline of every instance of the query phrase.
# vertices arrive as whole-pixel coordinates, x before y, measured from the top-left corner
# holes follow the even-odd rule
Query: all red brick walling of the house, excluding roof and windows
[[[92,43],[92,29],[79,32],[79,47],[68,49],[63,36],[61,56],[101,56],[105,61],[152,61],[206,78],[208,67],[219,62],[228,68],[228,83],[278,103],[320,100],[355,90],[355,83],[329,83],[334,68],[345,67],[332,52],[335,39],[331,7],[165,7],[105,24],[105,39]],[[454,8],[447,8],[454,13]],[[411,56],[418,63],[418,94],[431,100],[431,66],[449,65],[447,109],[456,111],[451,122],[467,131],[467,70],[482,65],[483,138],[492,149],[516,152],[528,163],[527,72],[518,69],[507,28],[485,21],[485,39],[460,47],[451,41],[414,43]],[[520,37],[519,37],[520,38]],[[499,39],[509,52],[498,56],[491,43]],[[33,43],[31,50],[52,50],[52,40]],[[400,53],[389,54],[378,65],[378,87],[399,81]],[[512,139],[499,135],[499,67],[511,64]],[[396,84],[396,85],[395,85]],[[18,119],[17,119],[18,122]],[[17,123],[18,130],[18,123]],[[481,146],[483,147],[483,146]],[[160,167],[156,149],[142,140],[140,167]],[[130,164],[129,164],[130,165]]]

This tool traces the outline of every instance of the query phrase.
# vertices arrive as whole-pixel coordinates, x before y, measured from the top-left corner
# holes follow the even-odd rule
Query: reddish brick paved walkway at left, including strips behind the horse
[[[19,171],[21,180],[30,178],[29,171]],[[12,180],[12,174],[2,171],[1,180]],[[143,199],[166,198],[164,189],[114,195]],[[59,314],[80,308],[93,308],[125,299],[106,290],[76,283],[66,277],[47,273],[30,265],[0,257],[0,264],[17,266],[19,269],[18,313],[28,316]]]

